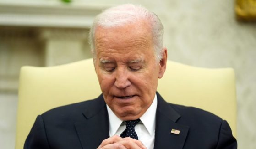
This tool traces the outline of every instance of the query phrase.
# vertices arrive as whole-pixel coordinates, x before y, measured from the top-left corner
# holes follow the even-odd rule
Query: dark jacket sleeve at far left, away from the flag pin
[[[44,127],[44,120],[38,115],[36,121],[27,136],[24,149],[50,149]]]

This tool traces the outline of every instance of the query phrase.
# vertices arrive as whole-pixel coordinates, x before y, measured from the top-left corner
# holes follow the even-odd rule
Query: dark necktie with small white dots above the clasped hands
[[[125,128],[125,130],[122,132],[122,134],[120,134],[120,137],[122,137],[122,138],[131,137],[131,138],[133,138],[133,139],[138,140],[138,136],[137,136],[137,134],[136,134],[136,132],[135,132],[134,127],[135,127],[135,125],[136,125],[137,123],[139,123],[139,122],[140,122],[140,119],[136,119],[136,120],[132,120],[132,121],[125,121],[125,123],[126,123],[126,128]]]

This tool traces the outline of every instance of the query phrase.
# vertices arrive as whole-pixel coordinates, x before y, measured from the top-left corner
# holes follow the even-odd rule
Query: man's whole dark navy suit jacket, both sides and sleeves
[[[237,149],[225,120],[198,108],[166,103],[158,93],[157,97],[154,149]],[[100,95],[39,115],[24,149],[96,149],[106,138],[109,119]]]

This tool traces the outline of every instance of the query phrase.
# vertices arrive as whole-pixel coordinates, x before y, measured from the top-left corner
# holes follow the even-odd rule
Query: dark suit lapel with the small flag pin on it
[[[176,123],[180,118],[180,114],[166,103],[158,92],[157,96],[158,107],[154,149],[182,149],[189,127]],[[180,130],[180,134],[171,133],[172,129]]]

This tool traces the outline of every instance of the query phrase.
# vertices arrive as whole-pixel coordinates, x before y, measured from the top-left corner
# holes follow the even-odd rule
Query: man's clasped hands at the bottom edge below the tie
[[[118,135],[104,139],[98,149],[147,149],[141,141],[130,137],[121,138]]]

